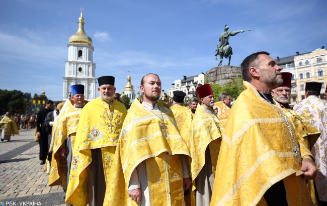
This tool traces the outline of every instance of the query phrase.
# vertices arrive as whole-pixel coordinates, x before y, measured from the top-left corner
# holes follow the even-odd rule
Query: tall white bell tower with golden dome
[[[93,62],[94,47],[92,39],[84,32],[84,18],[82,12],[78,18],[78,30],[69,37],[68,61],[65,64],[65,76],[63,78],[63,99],[67,99],[70,86],[83,84],[85,86],[85,99],[96,98],[95,77],[96,64]]]

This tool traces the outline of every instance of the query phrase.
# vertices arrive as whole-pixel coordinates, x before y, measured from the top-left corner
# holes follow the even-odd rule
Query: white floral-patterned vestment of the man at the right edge
[[[314,179],[318,196],[321,201],[327,201],[327,101],[311,95],[296,104],[293,109],[321,133],[311,152],[319,170]]]

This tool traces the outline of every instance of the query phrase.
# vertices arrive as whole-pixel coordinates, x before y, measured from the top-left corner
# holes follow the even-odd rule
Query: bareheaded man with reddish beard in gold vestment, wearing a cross
[[[143,101],[133,101],[124,121],[104,205],[185,205],[189,150],[172,111],[158,102],[158,75],[146,74],[140,90]]]

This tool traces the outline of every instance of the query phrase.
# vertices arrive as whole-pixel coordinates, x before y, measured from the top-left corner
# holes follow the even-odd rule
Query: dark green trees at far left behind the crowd
[[[30,93],[19,90],[0,89],[0,114],[9,111],[12,114],[24,114],[26,105],[31,101]]]

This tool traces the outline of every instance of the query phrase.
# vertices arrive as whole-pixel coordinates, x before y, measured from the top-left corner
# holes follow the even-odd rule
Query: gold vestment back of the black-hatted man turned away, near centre
[[[189,108],[175,104],[171,107],[174,114],[178,130],[185,142],[188,141],[191,134],[192,112]]]

